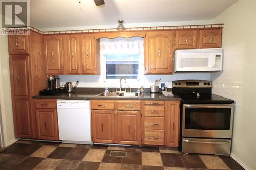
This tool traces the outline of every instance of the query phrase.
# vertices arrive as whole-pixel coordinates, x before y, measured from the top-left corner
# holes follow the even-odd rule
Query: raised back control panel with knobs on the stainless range
[[[212,88],[212,84],[208,80],[176,80],[173,88]]]

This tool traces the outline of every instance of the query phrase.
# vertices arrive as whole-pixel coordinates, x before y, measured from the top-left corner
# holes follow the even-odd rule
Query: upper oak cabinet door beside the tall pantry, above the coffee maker
[[[62,36],[45,36],[46,73],[63,74]]]

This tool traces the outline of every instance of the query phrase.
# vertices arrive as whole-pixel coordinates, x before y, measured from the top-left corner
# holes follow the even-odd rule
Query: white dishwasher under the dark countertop
[[[59,139],[63,143],[92,144],[90,101],[57,100]]]

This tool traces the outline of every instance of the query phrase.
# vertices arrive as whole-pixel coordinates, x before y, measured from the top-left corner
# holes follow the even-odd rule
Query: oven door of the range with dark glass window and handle
[[[182,137],[232,137],[233,104],[183,104],[182,110]]]

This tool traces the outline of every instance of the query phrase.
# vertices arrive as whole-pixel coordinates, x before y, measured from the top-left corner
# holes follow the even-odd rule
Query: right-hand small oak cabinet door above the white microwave
[[[199,48],[221,48],[222,29],[199,30]]]

